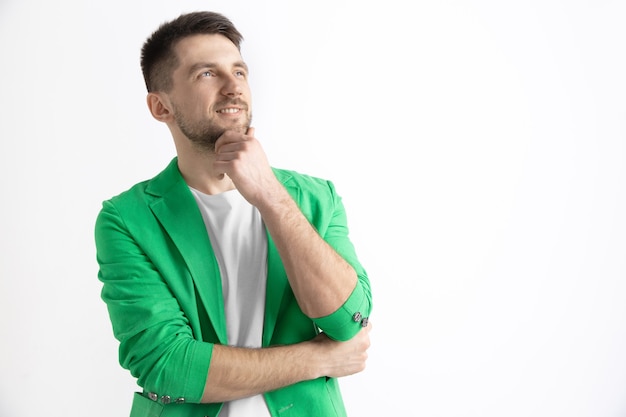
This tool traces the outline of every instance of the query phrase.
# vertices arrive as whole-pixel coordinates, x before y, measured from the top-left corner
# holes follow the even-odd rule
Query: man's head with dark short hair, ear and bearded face
[[[224,16],[184,14],[146,41],[141,65],[148,107],[168,125],[179,151],[213,151],[226,130],[246,132],[252,120],[242,36]],[[181,148],[183,147],[183,148]]]

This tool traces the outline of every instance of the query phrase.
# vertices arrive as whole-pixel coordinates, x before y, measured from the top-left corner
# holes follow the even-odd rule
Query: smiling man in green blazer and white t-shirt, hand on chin
[[[103,203],[95,236],[131,416],[345,416],[365,368],[367,274],[329,181],[270,167],[250,127],[241,34],[184,14],[142,48],[177,156]]]

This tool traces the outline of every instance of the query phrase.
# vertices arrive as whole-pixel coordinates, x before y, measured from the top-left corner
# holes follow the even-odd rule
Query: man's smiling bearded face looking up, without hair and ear
[[[168,93],[181,132],[203,150],[232,129],[245,133],[252,120],[248,68],[222,35],[194,35],[176,44],[179,66]]]

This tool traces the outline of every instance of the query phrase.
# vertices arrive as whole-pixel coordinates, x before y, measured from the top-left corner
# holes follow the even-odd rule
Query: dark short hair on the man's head
[[[141,71],[149,92],[171,89],[172,73],[178,66],[174,47],[181,39],[201,34],[223,35],[241,50],[243,36],[227,17],[219,13],[186,13],[162,23],[141,48]]]

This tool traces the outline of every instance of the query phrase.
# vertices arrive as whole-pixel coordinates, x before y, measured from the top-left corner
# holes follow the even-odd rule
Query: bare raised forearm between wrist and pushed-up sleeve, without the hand
[[[282,186],[258,208],[302,311],[312,318],[333,313],[354,290],[352,266],[322,239]]]

